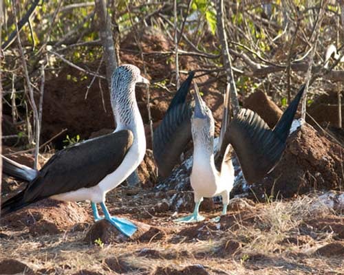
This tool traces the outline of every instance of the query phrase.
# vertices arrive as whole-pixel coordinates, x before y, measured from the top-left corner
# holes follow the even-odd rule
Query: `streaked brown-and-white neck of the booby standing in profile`
[[[111,107],[114,111],[116,131],[128,129],[134,137],[144,137],[144,126],[135,95],[135,83],[115,85],[111,92]]]

